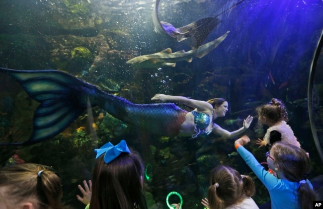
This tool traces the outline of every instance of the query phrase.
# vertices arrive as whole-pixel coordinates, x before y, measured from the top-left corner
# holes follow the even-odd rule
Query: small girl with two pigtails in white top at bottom
[[[202,205],[210,209],[258,209],[252,200],[255,186],[249,176],[227,166],[219,165],[211,172],[208,199]]]

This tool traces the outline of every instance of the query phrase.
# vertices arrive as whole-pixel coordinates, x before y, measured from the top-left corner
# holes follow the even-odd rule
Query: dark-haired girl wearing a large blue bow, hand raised
[[[83,181],[85,190],[79,185],[84,197],[78,200],[89,204],[88,209],[147,209],[140,155],[130,151],[125,140],[115,146],[108,142],[95,152],[93,179],[89,187]]]

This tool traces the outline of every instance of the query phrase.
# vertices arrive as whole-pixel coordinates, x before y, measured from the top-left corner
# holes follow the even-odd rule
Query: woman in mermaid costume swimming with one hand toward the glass
[[[173,103],[133,104],[109,94],[94,85],[59,70],[11,70],[0,68],[19,82],[28,95],[38,101],[33,118],[33,132],[25,142],[0,143],[0,145],[25,145],[51,139],[63,132],[86,109],[99,106],[113,117],[161,136],[192,136],[215,133],[235,138],[249,128],[252,117],[248,116],[243,127],[229,132],[214,123],[225,116],[228,102],[221,99],[209,102],[179,96],[156,94],[158,102],[180,102],[194,108],[187,112]],[[88,104],[91,104],[90,107]],[[205,115],[203,115],[205,114]],[[194,116],[195,115],[195,116]],[[205,122],[207,125],[205,126]]]

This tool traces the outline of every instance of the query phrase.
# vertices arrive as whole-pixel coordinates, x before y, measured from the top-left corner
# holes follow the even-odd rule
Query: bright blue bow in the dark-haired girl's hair
[[[101,154],[104,153],[103,159],[105,163],[109,163],[115,158],[117,158],[121,154],[121,152],[130,153],[127,143],[123,139],[120,141],[120,143],[118,143],[115,146],[112,143],[107,142],[99,149],[94,149],[94,151],[96,152],[95,159],[97,159],[99,156],[101,156]]]

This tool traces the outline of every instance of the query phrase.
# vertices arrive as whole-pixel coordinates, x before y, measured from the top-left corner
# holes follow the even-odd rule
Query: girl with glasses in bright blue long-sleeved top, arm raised
[[[247,136],[243,136],[235,141],[235,147],[267,188],[272,209],[311,209],[316,195],[307,179],[310,159],[305,150],[284,141],[274,143],[266,156],[268,167],[276,172],[276,177],[267,172],[243,147],[249,141]]]

